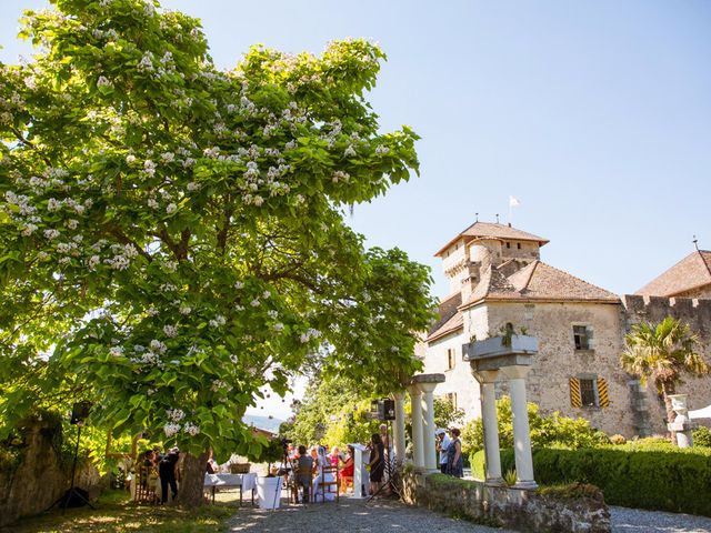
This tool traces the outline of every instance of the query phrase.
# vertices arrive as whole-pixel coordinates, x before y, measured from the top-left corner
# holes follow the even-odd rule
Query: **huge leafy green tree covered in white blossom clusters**
[[[259,453],[246,408],[309,356],[380,393],[418,369],[427,268],[343,222],[417,135],[379,133],[365,41],[221,71],[156,2],[53,3],[24,20],[39,54],[0,64],[0,408],[52,393],[28,375],[82,391],[91,423],[190,451],[199,501],[194,457]]]

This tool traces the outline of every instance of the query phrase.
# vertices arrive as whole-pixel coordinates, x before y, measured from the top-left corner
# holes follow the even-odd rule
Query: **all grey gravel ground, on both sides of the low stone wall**
[[[282,504],[286,500],[282,500]],[[711,533],[711,519],[610,506],[612,533]],[[230,519],[230,532],[247,533],[513,533],[454,520],[394,500],[342,499],[340,503],[284,505],[267,511],[246,505]]]

